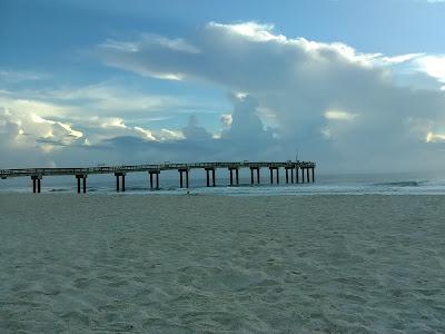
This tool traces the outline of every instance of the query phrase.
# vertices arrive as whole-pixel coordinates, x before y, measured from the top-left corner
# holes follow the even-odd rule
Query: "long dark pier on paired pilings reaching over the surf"
[[[216,186],[215,171],[218,168],[227,169],[230,173],[230,186],[239,185],[239,169],[250,169],[250,184],[259,184],[259,170],[268,168],[270,174],[270,184],[274,184],[274,171],[276,183],[279,184],[279,169],[284,168],[286,173],[286,184],[299,183],[299,171],[301,173],[301,183],[315,181],[315,163],[310,161],[259,161],[259,163],[192,163],[175,164],[165,163],[158,165],[134,165],[134,166],[97,166],[86,168],[24,168],[24,169],[0,169],[0,178],[30,177],[32,180],[32,191],[41,191],[41,181],[43,176],[72,175],[77,179],[77,190],[80,194],[87,193],[87,177],[95,174],[113,174],[116,177],[116,190],[125,191],[125,177],[128,173],[147,171],[150,178],[150,188],[159,189],[159,175],[162,170],[178,170],[179,186],[181,188],[189,186],[189,171],[191,169],[202,169],[206,171],[207,187]],[[295,171],[295,178],[294,178]],[[312,177],[310,177],[312,174]],[[290,176],[290,177],[289,177]],[[82,189],[81,189],[82,188]]]

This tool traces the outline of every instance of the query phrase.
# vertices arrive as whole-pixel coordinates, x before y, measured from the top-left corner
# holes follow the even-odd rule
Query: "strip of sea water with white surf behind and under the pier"
[[[126,195],[228,195],[228,196],[274,196],[274,195],[445,195],[445,174],[320,174],[315,183],[286,184],[284,170],[279,174],[279,184],[270,184],[268,169],[261,170],[260,184],[250,185],[249,170],[240,170],[239,185],[229,186],[229,173],[217,170],[216,186],[207,187],[205,173],[192,170],[189,174],[189,188],[179,187],[179,174],[176,170],[162,171],[159,176],[159,189],[150,189],[146,173],[132,173],[126,176]],[[317,170],[316,170],[317,171]],[[295,175],[294,175],[295,176]],[[156,176],[154,176],[156,177]],[[154,178],[154,181],[156,178]],[[235,178],[234,178],[235,181]],[[185,180],[184,180],[185,183]],[[0,191],[32,191],[29,177],[0,180]],[[42,179],[42,193],[77,193],[73,176],[47,176]],[[87,193],[116,194],[113,175],[89,175]]]

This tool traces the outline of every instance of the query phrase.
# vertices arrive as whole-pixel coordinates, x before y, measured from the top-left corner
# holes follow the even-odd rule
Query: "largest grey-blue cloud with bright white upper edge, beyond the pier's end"
[[[336,159],[334,165],[356,161],[360,166],[354,167],[375,168],[388,157],[412,157],[414,147],[433,149],[425,145],[427,134],[445,126],[444,94],[402,87],[393,68],[409,63],[442,80],[442,59],[427,55],[360,53],[340,42],[287,38],[273,26],[255,22],[201,27],[184,41],[197,52],[164,47],[147,37],[122,42],[131,42],[134,51],[99,46],[106,63],[140,75],[179,73],[247,94],[257,104],[248,109],[258,118],[238,112],[235,102],[231,127],[221,139],[239,138],[253,148],[256,136],[265,136],[269,145],[279,139],[277,155],[298,146],[307,158],[326,164]],[[258,109],[268,110],[274,130],[265,131]]]

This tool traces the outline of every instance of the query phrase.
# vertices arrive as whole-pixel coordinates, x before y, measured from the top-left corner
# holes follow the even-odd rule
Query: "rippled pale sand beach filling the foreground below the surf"
[[[0,195],[0,333],[445,332],[445,196]]]

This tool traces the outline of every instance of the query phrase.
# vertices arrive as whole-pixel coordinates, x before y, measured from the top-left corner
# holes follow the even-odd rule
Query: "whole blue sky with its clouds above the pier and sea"
[[[445,166],[445,1],[0,2],[0,168]]]

